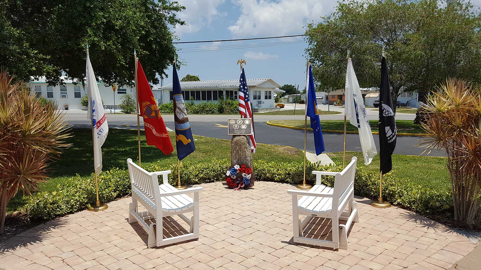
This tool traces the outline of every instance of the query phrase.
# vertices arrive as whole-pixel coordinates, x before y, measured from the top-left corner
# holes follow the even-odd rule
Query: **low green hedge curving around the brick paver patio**
[[[230,165],[229,160],[212,160],[208,163],[187,163],[181,166],[182,184],[193,185],[224,181],[225,172]],[[266,162],[256,160],[253,164],[256,181],[299,184],[303,179],[303,162]],[[147,171],[156,172],[171,170],[169,184],[177,184],[177,164],[170,168],[160,168],[157,165],[144,167]],[[306,172],[333,171],[340,172],[341,167],[335,165],[323,166],[320,163],[306,164]],[[437,192],[420,185],[413,184],[409,179],[398,179],[395,172],[385,174],[382,178],[383,197],[393,205],[416,211],[420,214],[452,213],[453,203],[449,192]],[[323,176],[323,183],[333,186],[333,176]],[[306,174],[306,181],[313,184],[316,180],[312,173]],[[162,181],[160,177],[159,181]],[[95,202],[94,175],[79,177],[78,175],[58,186],[55,192],[39,192],[30,197],[25,210],[33,219],[50,220],[78,210],[86,209]],[[254,186],[255,188],[255,186]],[[355,194],[368,198],[379,196],[379,174],[366,172],[357,168],[354,184]],[[130,193],[130,180],[125,169],[111,169],[99,174],[99,196],[102,202]],[[287,196],[287,193],[286,193]]]

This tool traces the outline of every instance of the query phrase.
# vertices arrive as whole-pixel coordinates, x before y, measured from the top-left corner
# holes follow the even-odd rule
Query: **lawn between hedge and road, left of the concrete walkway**
[[[88,177],[93,172],[92,132],[90,129],[73,129],[73,137],[67,139],[72,147],[63,151],[60,160],[50,166],[47,182],[40,184],[39,191],[54,191],[57,185],[68,181],[76,174]],[[175,133],[169,132],[174,152],[165,156],[157,147],[148,146],[144,132],[141,131],[141,160],[143,164],[155,163],[161,168],[177,164]],[[230,159],[230,141],[216,138],[194,136],[195,151],[186,157],[185,162],[206,162],[216,159]],[[107,140],[102,146],[103,170],[110,168],[127,169],[127,159],[138,160],[137,130],[110,129]],[[303,152],[291,147],[258,144],[255,160],[302,161]],[[7,211],[14,211],[25,205],[26,198],[18,193],[8,204]]]

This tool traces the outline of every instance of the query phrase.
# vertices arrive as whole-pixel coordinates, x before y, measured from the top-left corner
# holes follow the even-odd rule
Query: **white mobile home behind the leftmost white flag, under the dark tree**
[[[117,90],[113,91],[111,86],[105,86],[101,82],[97,82],[99,86],[100,96],[103,101],[103,107],[105,109],[114,109],[114,97],[115,107],[119,109],[120,98],[125,95],[131,95],[135,98],[135,90],[130,87],[118,86]],[[38,80],[32,80],[28,83],[32,93],[35,93],[37,97],[44,97],[49,100],[57,102],[59,109],[63,109],[64,105],[68,104],[68,108],[74,110],[87,109],[80,105],[80,99],[87,95],[87,87],[82,84],[74,84],[72,80],[63,80],[63,85],[49,86],[45,77]]]

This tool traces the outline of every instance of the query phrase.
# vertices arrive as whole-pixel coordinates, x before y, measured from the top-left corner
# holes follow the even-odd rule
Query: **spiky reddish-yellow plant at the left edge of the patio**
[[[47,167],[69,147],[67,123],[56,104],[42,104],[25,83],[0,72],[0,234],[7,203],[22,190],[30,194],[46,181]]]

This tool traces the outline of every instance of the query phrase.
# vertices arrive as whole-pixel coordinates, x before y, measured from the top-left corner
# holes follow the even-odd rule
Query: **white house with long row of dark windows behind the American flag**
[[[274,107],[276,93],[284,92],[278,88],[280,85],[270,78],[248,79],[247,86],[253,108]],[[193,100],[195,103],[216,102],[220,97],[237,100],[239,80],[180,82],[180,88],[182,88],[184,99]],[[153,86],[152,91],[159,105],[172,102],[172,84]]]

